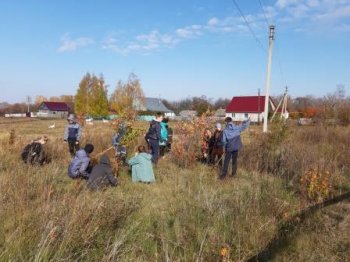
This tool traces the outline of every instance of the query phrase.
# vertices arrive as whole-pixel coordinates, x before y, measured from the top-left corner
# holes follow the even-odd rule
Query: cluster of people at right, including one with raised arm
[[[232,176],[237,174],[238,151],[242,147],[241,132],[250,125],[250,119],[241,124],[235,124],[231,117],[225,118],[225,128],[220,123],[215,124],[214,133],[210,129],[204,130],[201,145],[201,161],[210,165],[218,165],[219,179],[227,176],[228,167],[232,160]]]

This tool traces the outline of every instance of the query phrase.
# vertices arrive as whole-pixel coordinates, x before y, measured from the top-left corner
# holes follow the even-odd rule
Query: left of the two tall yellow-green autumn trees
[[[75,113],[81,116],[107,116],[107,86],[103,76],[90,73],[82,78],[75,96]]]

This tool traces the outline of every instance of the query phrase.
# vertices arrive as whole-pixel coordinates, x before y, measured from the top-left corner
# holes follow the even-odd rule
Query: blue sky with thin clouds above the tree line
[[[111,94],[134,73],[147,97],[349,95],[350,0],[2,0],[0,102]]]

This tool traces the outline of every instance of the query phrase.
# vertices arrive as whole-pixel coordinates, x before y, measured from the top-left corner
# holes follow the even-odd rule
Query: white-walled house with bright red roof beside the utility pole
[[[276,104],[271,97],[269,98],[269,112],[274,112]],[[263,120],[264,111],[265,96],[236,96],[227,105],[226,116],[232,117],[233,121],[243,121],[250,117],[252,122],[258,122]],[[288,118],[288,112],[285,112],[283,117]]]

